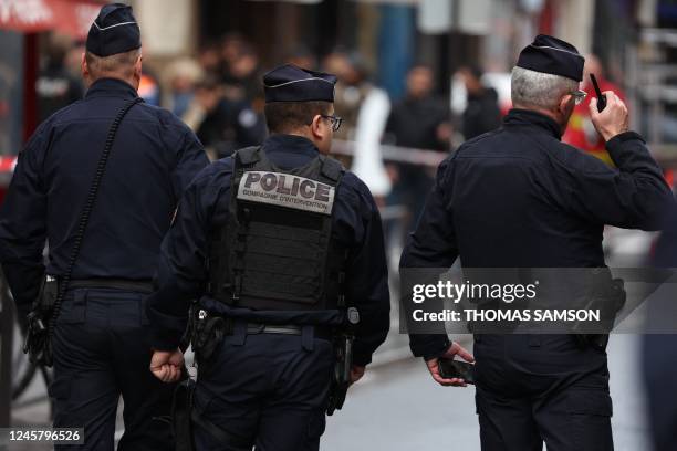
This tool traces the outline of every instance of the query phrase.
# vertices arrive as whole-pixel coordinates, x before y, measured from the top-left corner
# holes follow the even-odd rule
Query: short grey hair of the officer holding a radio
[[[510,95],[513,105],[545,109],[556,107],[562,96],[579,88],[579,82],[565,76],[513,67],[510,77]]]

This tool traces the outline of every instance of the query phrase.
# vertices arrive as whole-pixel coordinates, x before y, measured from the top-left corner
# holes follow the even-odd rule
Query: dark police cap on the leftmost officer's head
[[[122,3],[104,6],[87,34],[87,52],[110,56],[140,48],[140,30],[132,7]]]

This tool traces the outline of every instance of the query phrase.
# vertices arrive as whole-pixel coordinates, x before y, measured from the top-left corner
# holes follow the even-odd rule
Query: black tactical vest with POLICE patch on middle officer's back
[[[211,247],[212,296],[253,310],[343,307],[347,250],[332,240],[332,219],[344,172],[322,155],[285,170],[261,147],[233,154],[229,217]]]

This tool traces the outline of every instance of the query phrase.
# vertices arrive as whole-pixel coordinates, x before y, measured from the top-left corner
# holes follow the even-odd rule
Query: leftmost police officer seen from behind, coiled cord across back
[[[0,259],[21,312],[44,274],[62,283],[97,161],[125,106],[96,202],[53,329],[54,426],[83,428],[87,450],[113,450],[118,398],[119,450],[170,449],[171,386],[148,374],[150,343],[142,300],[184,188],[208,165],[188,127],[137,99],[140,33],[125,4],[107,4],[83,55],[88,90],[52,115],[19,155],[0,219]],[[42,252],[49,243],[49,263]]]

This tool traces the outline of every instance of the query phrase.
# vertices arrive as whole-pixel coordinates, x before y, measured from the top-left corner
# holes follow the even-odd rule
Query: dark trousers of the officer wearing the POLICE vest
[[[194,409],[232,440],[194,424],[197,450],[317,450],[333,361],[331,342],[312,335],[227,336],[199,364]]]

